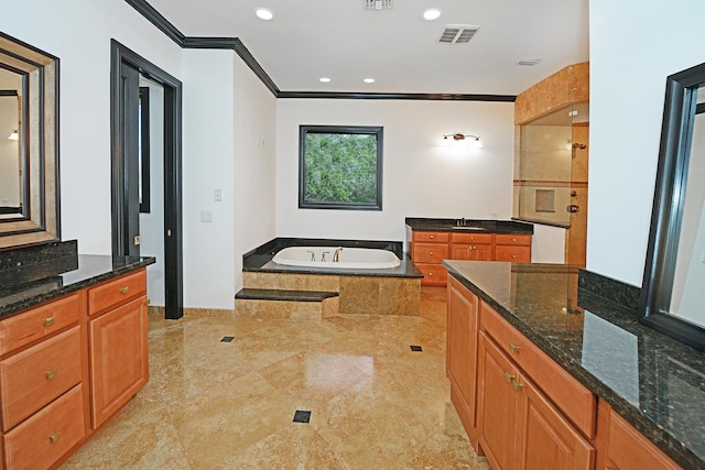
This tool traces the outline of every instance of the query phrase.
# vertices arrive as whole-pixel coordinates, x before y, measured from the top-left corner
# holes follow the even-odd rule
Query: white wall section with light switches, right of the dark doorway
[[[234,308],[232,51],[183,52],[184,307]],[[216,201],[215,189],[223,192]],[[213,215],[202,221],[202,212]]]

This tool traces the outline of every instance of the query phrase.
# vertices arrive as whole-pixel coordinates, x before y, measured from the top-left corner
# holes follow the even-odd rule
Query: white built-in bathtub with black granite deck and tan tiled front
[[[419,315],[422,277],[399,241],[276,238],[242,255],[243,291],[336,293],[335,315]],[[285,313],[252,305],[236,300],[236,313]]]

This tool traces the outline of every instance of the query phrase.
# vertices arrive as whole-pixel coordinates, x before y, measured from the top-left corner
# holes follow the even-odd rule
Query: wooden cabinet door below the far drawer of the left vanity
[[[137,298],[90,321],[94,429],[148,381],[144,300]]]

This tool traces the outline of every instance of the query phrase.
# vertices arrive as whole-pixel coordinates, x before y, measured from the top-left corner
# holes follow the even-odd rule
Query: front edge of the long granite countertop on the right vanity
[[[445,261],[443,265],[448,270],[448,273],[459,281],[471,293],[477,295],[480,299],[485,300],[490,307],[492,307],[502,318],[509,321],[514,328],[523,334],[529,340],[536,345],[543,352],[545,352],[551,359],[556,361],[558,365],[565,369],[578,382],[585,385],[590,392],[597,395],[599,398],[605,400],[612,409],[625,418],[629,424],[634,426],[641,431],[647,439],[657,445],[661,450],[669,455],[673,460],[684,466],[685,468],[705,468],[705,461],[688,449],[685,444],[679,440],[675,436],[661,427],[658,423],[653,422],[649,415],[643,413],[640,408],[629,403],[626,398],[615,392],[609,385],[605,384],[600,379],[596,378],[589,371],[577,363],[573,358],[568,357],[567,352],[556,348],[551,341],[545,339],[543,335],[534,330],[531,326],[524,324],[520,318],[514,316],[499,302],[492,298],[489,294],[485,293],[480,287],[476,286],[465,275],[456,271],[453,266],[448,265]],[[586,294],[590,295],[590,294]]]

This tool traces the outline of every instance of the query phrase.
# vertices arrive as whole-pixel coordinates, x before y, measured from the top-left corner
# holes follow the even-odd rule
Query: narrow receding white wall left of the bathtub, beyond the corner
[[[235,61],[235,289],[242,254],[276,237],[276,99],[252,70]]]

